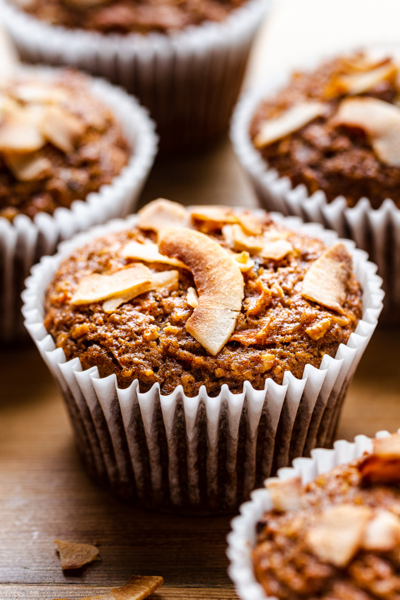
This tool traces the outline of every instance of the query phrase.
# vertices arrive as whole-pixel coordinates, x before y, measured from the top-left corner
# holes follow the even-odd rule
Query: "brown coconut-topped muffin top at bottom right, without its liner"
[[[395,600],[400,590],[400,436],[303,486],[270,479],[254,572],[282,600]]]

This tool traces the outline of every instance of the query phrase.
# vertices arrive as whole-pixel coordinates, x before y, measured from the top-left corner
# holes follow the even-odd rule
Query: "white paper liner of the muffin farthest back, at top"
[[[22,58],[72,65],[123,85],[148,107],[164,148],[196,146],[227,130],[255,32],[272,0],[248,0],[221,23],[170,35],[104,35],[51,26],[1,0]]]

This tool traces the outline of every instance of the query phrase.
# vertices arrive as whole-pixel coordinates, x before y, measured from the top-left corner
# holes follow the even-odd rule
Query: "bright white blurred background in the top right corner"
[[[400,0],[275,0],[246,86],[314,56],[371,43],[400,44]]]

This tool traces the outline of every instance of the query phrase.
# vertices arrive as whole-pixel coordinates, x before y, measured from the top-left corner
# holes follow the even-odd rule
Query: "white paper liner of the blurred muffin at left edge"
[[[51,79],[58,69],[23,67],[22,73]],[[120,88],[101,79],[89,79],[91,91],[108,104],[122,124],[132,148],[127,166],[110,185],[76,200],[70,209],[57,208],[52,216],[38,213],[34,220],[18,215],[13,223],[0,217],[0,340],[11,341],[25,331],[21,318],[20,294],[29,269],[41,256],[53,254],[57,244],[74,233],[125,217],[136,208],[157,152],[154,123],[137,101]]]

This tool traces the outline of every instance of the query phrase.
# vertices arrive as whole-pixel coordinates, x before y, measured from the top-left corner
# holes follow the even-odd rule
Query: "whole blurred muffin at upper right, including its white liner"
[[[393,49],[330,59],[243,100],[233,127],[267,208],[317,220],[367,250],[390,315],[400,307],[399,64]]]

